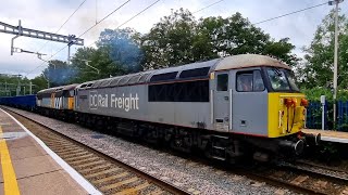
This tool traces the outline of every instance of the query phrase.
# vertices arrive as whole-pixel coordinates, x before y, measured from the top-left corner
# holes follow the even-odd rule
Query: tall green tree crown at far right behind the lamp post
[[[348,88],[348,20],[338,16],[338,89]],[[311,44],[303,49],[304,64],[299,68],[301,86],[313,88],[333,87],[335,10],[332,10],[319,25]]]

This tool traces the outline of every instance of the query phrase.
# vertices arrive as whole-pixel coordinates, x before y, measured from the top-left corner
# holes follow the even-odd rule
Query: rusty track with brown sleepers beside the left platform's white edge
[[[189,194],[127,164],[7,109],[103,194]]]

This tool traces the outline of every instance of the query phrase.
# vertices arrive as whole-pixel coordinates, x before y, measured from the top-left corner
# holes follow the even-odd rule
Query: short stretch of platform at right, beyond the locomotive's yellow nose
[[[348,143],[348,132],[333,131],[333,130],[320,130],[320,129],[303,129],[304,133],[321,133],[322,141]]]

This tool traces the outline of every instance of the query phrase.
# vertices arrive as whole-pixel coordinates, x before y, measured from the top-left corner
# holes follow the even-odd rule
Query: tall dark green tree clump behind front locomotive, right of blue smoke
[[[146,69],[245,53],[273,55],[295,65],[298,58],[291,53],[294,48],[288,38],[271,39],[240,13],[197,22],[189,11],[183,9],[161,18],[142,37]]]

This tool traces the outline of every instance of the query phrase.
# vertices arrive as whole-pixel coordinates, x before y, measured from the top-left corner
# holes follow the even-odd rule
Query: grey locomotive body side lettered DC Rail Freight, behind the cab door
[[[76,90],[75,110],[79,113],[172,125],[185,128],[213,129],[209,118],[209,69],[217,60],[150,74],[109,80],[104,87],[86,82]],[[179,78],[188,69],[206,68],[203,76]],[[201,69],[199,69],[201,70]],[[175,73],[175,74],[173,74]],[[172,74],[172,78],[167,75]],[[184,75],[187,74],[186,72]],[[132,78],[142,80],[128,83]],[[154,76],[158,79],[151,80]],[[114,83],[117,80],[117,83]],[[124,86],[122,86],[122,81]],[[120,83],[121,82],[121,83]],[[89,86],[89,87],[87,87]],[[196,90],[195,90],[196,89]],[[190,94],[189,91],[192,90]],[[195,93],[197,92],[197,93]],[[199,93],[199,94],[198,94]]]

